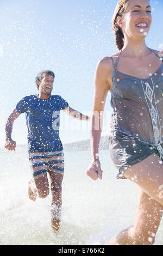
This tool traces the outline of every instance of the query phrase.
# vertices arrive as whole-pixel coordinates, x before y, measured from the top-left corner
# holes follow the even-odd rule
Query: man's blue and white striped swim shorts
[[[34,179],[40,178],[48,171],[64,174],[64,152],[29,153],[29,161]]]

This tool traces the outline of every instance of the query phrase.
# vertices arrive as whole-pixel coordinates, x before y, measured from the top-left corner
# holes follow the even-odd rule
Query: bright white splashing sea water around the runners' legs
[[[32,178],[27,150],[0,150],[1,245],[96,245],[134,223],[137,186],[117,180],[109,151],[100,151],[103,179],[86,175],[90,151],[65,151],[62,215],[59,234],[51,228],[51,196],[28,198]],[[155,245],[163,245],[163,222]]]

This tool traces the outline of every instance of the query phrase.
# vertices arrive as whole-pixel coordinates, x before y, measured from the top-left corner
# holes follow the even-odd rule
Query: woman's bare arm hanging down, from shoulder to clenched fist
[[[99,142],[101,138],[103,113],[108,90],[110,89],[110,65],[109,57],[102,59],[95,73],[95,93],[93,97],[93,112],[91,117],[91,163],[86,174],[93,180],[102,179],[101,164],[98,156]],[[111,66],[112,68],[112,66]]]

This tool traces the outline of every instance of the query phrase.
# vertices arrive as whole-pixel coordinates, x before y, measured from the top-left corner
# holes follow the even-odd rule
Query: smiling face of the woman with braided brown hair
[[[129,0],[122,19],[119,19],[124,35],[129,38],[145,38],[152,23],[149,0]]]

